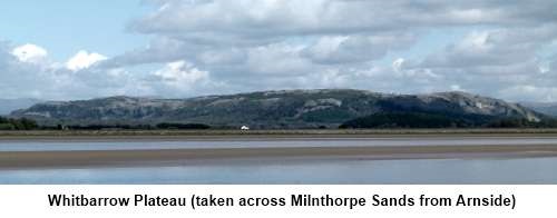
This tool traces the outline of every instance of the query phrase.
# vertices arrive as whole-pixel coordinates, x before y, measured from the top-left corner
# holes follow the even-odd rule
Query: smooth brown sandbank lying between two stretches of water
[[[292,148],[193,148],[89,151],[4,151],[0,169],[134,166],[157,162],[212,161],[250,158],[442,158],[557,157],[557,145],[505,146],[397,146],[397,147],[292,147]]]

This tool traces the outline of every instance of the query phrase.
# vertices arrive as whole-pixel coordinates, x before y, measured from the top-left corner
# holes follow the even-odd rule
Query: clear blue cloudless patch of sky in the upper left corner
[[[81,49],[116,56],[148,42],[148,36],[126,30],[131,19],[152,8],[140,0],[18,0],[1,4],[1,39],[41,44],[56,59],[67,59]]]

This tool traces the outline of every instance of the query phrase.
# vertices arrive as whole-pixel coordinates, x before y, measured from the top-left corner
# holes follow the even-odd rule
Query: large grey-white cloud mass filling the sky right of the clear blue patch
[[[158,10],[128,27],[153,34],[153,42],[107,65],[188,60],[213,80],[242,85],[240,91],[349,87],[504,96],[525,78],[541,86],[531,78],[553,75],[537,52],[555,40],[554,1],[157,2]],[[420,40],[431,40],[429,31],[459,28],[466,36],[443,50],[404,57]],[[379,63],[393,53],[401,57],[392,66]],[[496,85],[486,86],[490,80]]]

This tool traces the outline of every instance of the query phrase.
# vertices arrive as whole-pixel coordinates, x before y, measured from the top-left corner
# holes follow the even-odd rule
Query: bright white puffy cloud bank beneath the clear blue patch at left
[[[212,93],[225,82],[209,72],[177,60],[158,69],[131,70],[100,67],[107,58],[78,51],[65,65],[52,61],[36,44],[0,42],[0,93],[3,98],[84,99],[115,95],[184,97]]]

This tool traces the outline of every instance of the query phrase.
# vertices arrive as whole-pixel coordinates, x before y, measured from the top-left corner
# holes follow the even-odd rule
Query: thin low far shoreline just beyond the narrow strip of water
[[[329,130],[31,130],[0,131],[9,140],[186,140],[250,138],[557,137],[556,129],[329,129]]]

